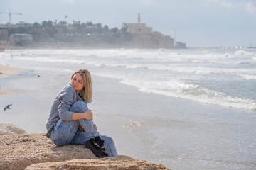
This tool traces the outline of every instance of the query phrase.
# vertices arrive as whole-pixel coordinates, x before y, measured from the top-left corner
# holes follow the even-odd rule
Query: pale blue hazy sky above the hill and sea
[[[256,46],[256,0],[0,0],[0,23],[141,23],[187,47]],[[67,16],[67,18],[65,18]]]

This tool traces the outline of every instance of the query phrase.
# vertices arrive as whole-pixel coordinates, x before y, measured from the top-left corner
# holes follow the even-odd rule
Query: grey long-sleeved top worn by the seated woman
[[[58,120],[72,120],[73,112],[70,111],[70,107],[76,101],[83,101],[78,92],[73,89],[71,84],[67,84],[53,101],[53,106],[50,110],[48,122],[46,124],[47,131],[50,130],[53,125],[56,125]]]

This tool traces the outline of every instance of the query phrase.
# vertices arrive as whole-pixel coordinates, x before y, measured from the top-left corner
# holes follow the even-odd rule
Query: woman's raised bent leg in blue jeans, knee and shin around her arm
[[[84,113],[87,110],[88,106],[84,101],[77,101],[70,108],[70,111],[73,111],[75,113]],[[95,128],[93,127],[94,123],[92,120],[80,119],[79,122],[85,132],[90,135],[90,137],[97,137],[100,135],[99,132],[97,132],[97,130],[95,130]]]

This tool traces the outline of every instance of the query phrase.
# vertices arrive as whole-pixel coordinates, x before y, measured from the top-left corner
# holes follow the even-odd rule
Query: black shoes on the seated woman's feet
[[[90,149],[96,157],[107,157],[108,154],[105,152],[104,140],[101,140],[100,137],[92,137],[90,140],[85,142],[85,147]]]

